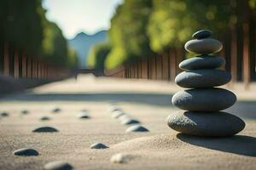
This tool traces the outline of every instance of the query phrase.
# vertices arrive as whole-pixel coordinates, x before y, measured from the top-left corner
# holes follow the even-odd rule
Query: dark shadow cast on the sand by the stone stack
[[[177,133],[177,139],[211,150],[256,157],[256,138],[250,136],[236,135],[227,138],[205,138]]]

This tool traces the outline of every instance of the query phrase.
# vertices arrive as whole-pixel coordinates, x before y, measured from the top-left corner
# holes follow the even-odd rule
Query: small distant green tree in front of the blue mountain
[[[105,59],[110,50],[111,46],[109,42],[102,42],[94,45],[92,48],[90,48],[90,53],[87,60],[88,65],[98,70],[103,70]]]

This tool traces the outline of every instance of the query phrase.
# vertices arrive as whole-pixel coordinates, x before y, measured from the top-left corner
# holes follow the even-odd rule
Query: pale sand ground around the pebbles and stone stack
[[[195,138],[176,133],[166,125],[166,116],[177,111],[172,94],[180,90],[167,82],[118,80],[80,76],[11,94],[0,100],[0,169],[43,169],[49,161],[68,161],[75,169],[255,169],[256,168],[256,89],[244,92],[240,84],[232,90],[238,102],[228,111],[247,123],[232,138]],[[225,87],[226,88],[226,87]],[[253,95],[254,93],[254,95]],[[115,103],[142,122],[148,133],[125,133],[109,113]],[[53,114],[55,107],[61,112]],[[28,115],[20,115],[27,109]],[[91,118],[77,114],[88,110]],[[49,116],[48,122],[39,117]],[[58,133],[32,133],[39,126],[52,126]],[[102,142],[109,149],[91,150]],[[20,148],[38,150],[39,156],[14,156]],[[111,156],[124,153],[130,158],[119,164]]]

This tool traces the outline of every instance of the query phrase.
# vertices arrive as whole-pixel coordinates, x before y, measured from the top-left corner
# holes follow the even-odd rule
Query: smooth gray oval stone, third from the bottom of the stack
[[[175,77],[175,82],[183,88],[212,88],[230,82],[231,74],[218,69],[183,71]]]

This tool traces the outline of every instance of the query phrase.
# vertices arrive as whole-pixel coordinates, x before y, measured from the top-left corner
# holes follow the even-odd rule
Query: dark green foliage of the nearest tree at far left
[[[2,41],[37,54],[43,37],[40,10],[42,10],[40,0],[1,0],[0,38]]]

